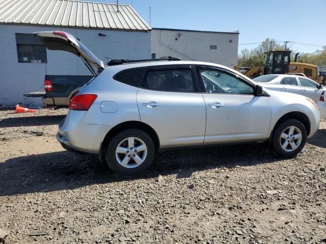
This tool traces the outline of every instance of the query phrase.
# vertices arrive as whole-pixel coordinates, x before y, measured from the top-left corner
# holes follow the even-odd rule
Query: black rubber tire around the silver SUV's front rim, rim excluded
[[[295,150],[286,151],[281,146],[281,142],[280,142],[280,140],[281,140],[281,134],[284,132],[284,130],[286,130],[288,127],[291,127],[291,126],[294,126],[294,127],[298,128],[301,131],[302,138],[301,138],[300,144],[298,145],[298,147]],[[274,135],[273,135],[273,141],[272,141],[272,143],[273,143],[273,148],[274,148],[275,152],[279,156],[281,156],[283,158],[294,158],[294,157],[296,157],[296,155],[298,153],[300,153],[300,151],[302,150],[302,148],[304,148],[304,146],[306,144],[306,141],[307,141],[307,129],[306,129],[306,127],[299,120],[296,120],[296,119],[288,119],[288,120],[285,120],[284,122],[282,122],[276,128],[276,130],[274,132]],[[290,145],[289,145],[289,149],[290,149]]]

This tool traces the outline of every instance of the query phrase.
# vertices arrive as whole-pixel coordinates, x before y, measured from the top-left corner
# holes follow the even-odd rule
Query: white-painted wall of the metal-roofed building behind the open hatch
[[[90,75],[77,56],[64,51],[47,52],[47,64],[18,63],[15,33],[32,34],[37,31],[54,31],[58,28],[0,25],[0,107],[43,105],[41,98],[25,98],[23,94],[42,87],[45,74]],[[60,28],[86,45],[106,63],[110,58],[150,58],[150,32],[119,32],[93,29]],[[106,34],[99,37],[98,33]]]

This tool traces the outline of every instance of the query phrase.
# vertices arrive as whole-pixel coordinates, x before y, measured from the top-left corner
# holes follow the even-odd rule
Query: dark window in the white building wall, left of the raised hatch
[[[16,33],[18,63],[47,63],[46,47],[34,34]]]

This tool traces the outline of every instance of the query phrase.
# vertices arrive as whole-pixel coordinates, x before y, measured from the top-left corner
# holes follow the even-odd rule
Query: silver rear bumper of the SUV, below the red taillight
[[[57,140],[66,149],[99,154],[101,143],[111,127],[83,124],[86,113],[87,111],[69,110],[66,118],[59,124]]]

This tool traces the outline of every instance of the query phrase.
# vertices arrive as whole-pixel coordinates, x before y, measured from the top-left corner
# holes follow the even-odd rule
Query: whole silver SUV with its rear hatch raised
[[[269,141],[291,158],[319,126],[311,99],[267,92],[225,66],[168,57],[104,67],[68,33],[37,35],[49,49],[81,57],[94,75],[70,100],[57,139],[64,148],[104,155],[120,174],[146,170],[161,148]]]

